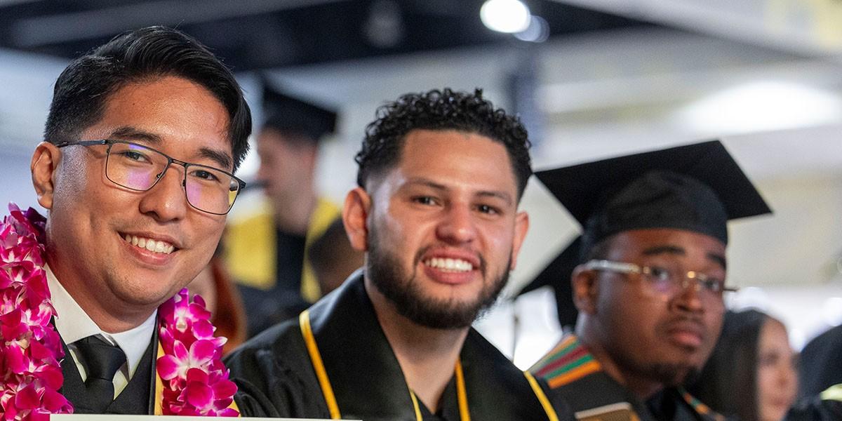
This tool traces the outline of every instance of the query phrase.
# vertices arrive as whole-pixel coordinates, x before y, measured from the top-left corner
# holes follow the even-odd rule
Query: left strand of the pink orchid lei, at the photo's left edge
[[[0,224],[0,419],[49,419],[73,408],[58,392],[64,351],[50,322],[45,219],[32,208],[8,209]]]

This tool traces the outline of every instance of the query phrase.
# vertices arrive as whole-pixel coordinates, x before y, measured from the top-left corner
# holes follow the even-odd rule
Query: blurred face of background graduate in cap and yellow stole
[[[257,179],[276,208],[284,209],[287,200],[300,197],[302,188],[311,188],[315,145],[303,139],[286,139],[280,131],[267,128],[258,135],[257,149]]]

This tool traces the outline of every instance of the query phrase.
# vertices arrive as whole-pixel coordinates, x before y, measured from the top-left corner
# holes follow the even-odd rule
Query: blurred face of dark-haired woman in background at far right
[[[786,328],[767,318],[760,328],[757,355],[757,402],[760,421],[781,421],[795,402],[798,388],[795,353]]]

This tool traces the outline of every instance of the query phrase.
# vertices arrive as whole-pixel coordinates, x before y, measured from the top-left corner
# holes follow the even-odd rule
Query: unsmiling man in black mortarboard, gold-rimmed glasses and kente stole
[[[770,212],[719,141],[536,173],[582,224],[575,334],[530,371],[578,419],[714,419],[680,385],[725,311],[727,220]]]

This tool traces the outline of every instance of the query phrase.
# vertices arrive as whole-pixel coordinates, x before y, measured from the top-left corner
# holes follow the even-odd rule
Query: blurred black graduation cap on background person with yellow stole
[[[263,86],[264,128],[303,135],[314,143],[336,130],[336,112],[281,93],[265,78]]]

